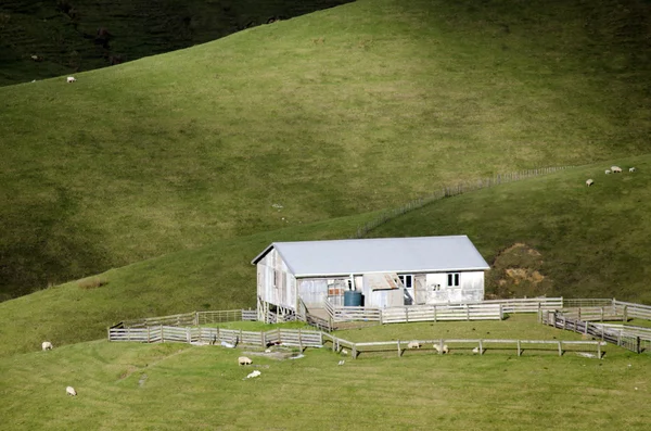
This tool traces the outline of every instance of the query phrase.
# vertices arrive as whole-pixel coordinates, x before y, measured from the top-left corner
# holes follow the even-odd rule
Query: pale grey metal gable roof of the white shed
[[[273,242],[296,277],[489,269],[467,236]]]

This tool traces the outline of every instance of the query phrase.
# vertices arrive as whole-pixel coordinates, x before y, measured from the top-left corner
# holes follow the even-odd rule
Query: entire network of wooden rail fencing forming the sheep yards
[[[651,306],[620,302],[616,300],[588,299],[588,300],[563,300],[560,299],[522,299],[522,300],[496,300],[486,301],[483,307],[474,307],[473,304],[447,305],[439,307],[400,307],[399,309],[379,310],[378,324],[392,322],[423,322],[423,321],[476,321],[495,320],[488,315],[484,318],[472,318],[472,309],[497,309],[502,320],[508,314],[535,314],[538,324],[551,326],[558,329],[571,330],[592,340],[532,340],[510,337],[506,338],[452,338],[446,337],[435,339],[419,339],[418,337],[405,337],[405,339],[391,341],[349,341],[337,337],[330,331],[333,329],[332,318],[326,324],[314,325],[310,319],[302,319],[316,326],[310,329],[285,329],[277,328],[268,331],[246,331],[242,329],[225,329],[202,327],[202,325],[229,322],[229,321],[254,321],[257,320],[256,310],[221,310],[221,312],[193,312],[173,316],[152,317],[138,320],[125,320],[107,328],[108,341],[131,341],[142,343],[183,342],[190,344],[242,344],[245,346],[266,348],[270,345],[283,344],[296,346],[302,351],[307,347],[323,347],[330,343],[335,352],[348,348],[353,358],[362,353],[391,352],[394,351],[401,356],[410,342],[418,343],[425,348],[419,351],[434,350],[436,345],[450,344],[456,352],[470,352],[483,355],[487,348],[492,351],[515,351],[518,356],[522,355],[525,347],[527,351],[557,352],[563,355],[565,351],[587,352],[590,357],[601,357],[602,346],[612,343],[631,352],[649,352],[651,347],[651,329],[614,326],[603,324],[605,320],[623,320],[638,318],[651,320]],[[360,313],[357,308],[345,315],[346,307],[332,307],[329,313],[341,321],[365,319],[368,314]],[[449,310],[457,314],[446,314]],[[285,321],[283,316],[275,316],[273,321]],[[265,319],[267,320],[267,319]],[[292,319],[294,320],[294,319]],[[268,321],[268,320],[267,320]],[[597,324],[595,321],[601,321]],[[322,326],[329,331],[320,330]],[[474,334],[474,333],[473,333]]]

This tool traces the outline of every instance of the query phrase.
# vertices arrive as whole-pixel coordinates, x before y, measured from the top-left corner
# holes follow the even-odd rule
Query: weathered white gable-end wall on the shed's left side
[[[296,310],[296,278],[276,250],[257,263],[257,294],[265,302]]]

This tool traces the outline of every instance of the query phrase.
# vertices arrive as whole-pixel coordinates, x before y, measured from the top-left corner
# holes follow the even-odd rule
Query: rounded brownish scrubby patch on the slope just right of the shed
[[[486,297],[541,296],[551,292],[552,281],[542,271],[542,254],[516,242],[501,251],[486,277]]]

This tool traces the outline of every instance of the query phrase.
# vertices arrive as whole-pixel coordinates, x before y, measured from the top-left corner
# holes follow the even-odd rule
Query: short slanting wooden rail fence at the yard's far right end
[[[649,348],[651,337],[634,334],[624,330],[612,330],[605,325],[592,324],[587,320],[566,317],[561,313],[542,313],[542,324],[553,326],[554,328],[577,332],[584,335],[591,335],[627,348],[631,352],[642,353]]]

